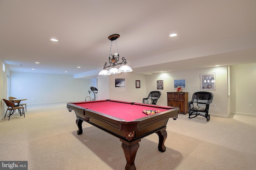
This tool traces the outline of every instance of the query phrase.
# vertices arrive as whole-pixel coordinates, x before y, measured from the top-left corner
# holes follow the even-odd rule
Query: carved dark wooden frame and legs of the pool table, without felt
[[[90,104],[90,102],[118,102],[144,107],[155,107],[156,110],[166,110],[160,113],[155,113],[153,115],[148,115],[146,117],[135,119],[133,121],[125,121],[124,119],[100,113],[90,108],[78,106],[79,104],[83,104],[85,102],[67,103],[68,110],[74,110],[76,113],[76,125],[78,127],[78,135],[81,135],[83,133],[82,123],[86,121],[87,123],[90,123],[91,125],[98,127],[103,131],[106,131],[120,139],[127,162],[125,167],[126,170],[136,170],[134,160],[137,150],[139,148],[139,142],[142,138],[151,135],[152,133],[156,133],[159,137],[158,150],[160,152],[165,152],[166,147],[164,146],[164,142],[167,137],[167,132],[165,130],[166,124],[170,117],[172,117],[173,119],[176,119],[178,117],[178,108],[123,102],[117,100],[97,100],[89,101],[86,103]]]

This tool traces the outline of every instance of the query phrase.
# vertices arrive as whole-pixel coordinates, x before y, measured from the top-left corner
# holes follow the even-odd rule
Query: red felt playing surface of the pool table
[[[94,102],[76,102],[73,103],[77,106],[84,107],[84,109],[92,109],[106,115],[114,116],[124,121],[133,121],[148,115],[142,113],[143,110],[159,110],[160,112],[170,109],[170,107],[165,106],[152,106],[148,104],[139,104],[132,102],[112,102],[106,100],[99,100]],[[155,113],[156,114],[156,113]]]

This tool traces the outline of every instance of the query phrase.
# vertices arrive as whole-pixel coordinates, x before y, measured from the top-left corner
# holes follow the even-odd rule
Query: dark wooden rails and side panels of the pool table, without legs
[[[164,107],[167,109],[166,111],[148,115],[134,121],[125,121],[124,119],[80,107],[72,103],[68,103],[67,108],[74,110],[78,119],[86,121],[127,142],[131,141],[126,139],[125,132],[135,131],[135,137],[132,141],[142,139],[145,136],[155,133],[159,129],[166,128],[168,119],[178,116],[179,113],[178,108]]]

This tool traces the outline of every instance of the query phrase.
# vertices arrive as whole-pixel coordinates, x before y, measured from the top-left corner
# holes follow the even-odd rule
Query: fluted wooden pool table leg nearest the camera
[[[139,147],[140,145],[138,142],[133,143],[131,145],[122,143],[122,149],[124,150],[124,155],[126,158],[125,170],[136,170],[134,160]]]

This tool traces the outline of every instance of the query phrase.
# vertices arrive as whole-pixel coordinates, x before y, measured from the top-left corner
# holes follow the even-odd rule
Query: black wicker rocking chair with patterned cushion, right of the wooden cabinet
[[[213,94],[211,92],[195,92],[192,100],[188,102],[188,118],[194,118],[198,115],[210,120],[209,106],[212,103]],[[194,117],[190,117],[195,115]]]

